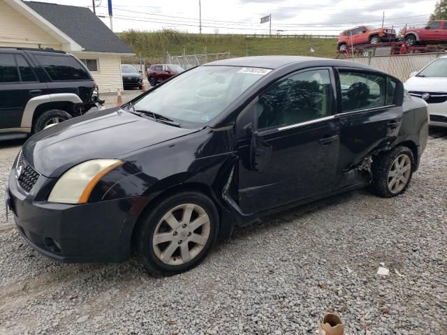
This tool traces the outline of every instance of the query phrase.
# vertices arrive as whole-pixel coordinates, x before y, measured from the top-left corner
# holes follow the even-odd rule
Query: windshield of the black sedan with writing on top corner
[[[185,128],[207,124],[271,70],[198,66],[133,102],[136,111],[160,114]]]

